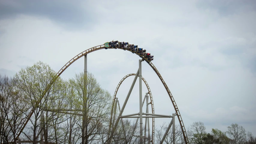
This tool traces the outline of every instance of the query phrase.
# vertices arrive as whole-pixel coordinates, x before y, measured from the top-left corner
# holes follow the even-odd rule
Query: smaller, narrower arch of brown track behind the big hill
[[[111,122],[112,122],[112,116],[113,116],[113,108],[114,108],[114,104],[115,104],[115,99],[116,99],[116,94],[117,94],[117,91],[120,87],[120,85],[122,84],[122,82],[128,78],[129,76],[135,76],[136,74],[135,73],[131,73],[131,74],[128,74],[126,75],[125,77],[122,78],[122,80],[118,83],[117,87],[116,87],[116,91],[114,93],[114,96],[113,96],[113,101],[112,101],[112,110],[111,110],[111,117],[110,117],[110,125],[109,125],[109,131],[110,131],[110,128],[111,128]],[[151,93],[151,90],[149,88],[149,85],[147,83],[147,81],[142,77],[142,80],[143,82],[145,83],[147,89],[148,89],[148,93],[149,93],[149,97],[150,97],[150,102],[151,102],[151,108],[152,108],[152,113],[155,113],[155,109],[154,109],[154,102],[153,102],[153,97],[152,97],[152,93]],[[155,118],[152,118],[152,143],[154,143],[154,136],[155,136]]]

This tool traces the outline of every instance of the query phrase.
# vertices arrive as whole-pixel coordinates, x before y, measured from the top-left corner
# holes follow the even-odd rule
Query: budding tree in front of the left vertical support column
[[[111,95],[101,88],[92,73],[76,74],[69,80],[73,86],[77,104],[82,111],[82,121],[79,124],[82,130],[82,143],[87,144],[100,140],[102,134],[107,133],[111,111]]]

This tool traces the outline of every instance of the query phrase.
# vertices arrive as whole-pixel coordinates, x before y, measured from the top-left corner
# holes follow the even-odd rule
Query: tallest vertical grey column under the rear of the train
[[[140,87],[140,143],[143,143],[143,122],[142,122],[142,73],[141,73],[141,61],[139,60],[139,87]]]

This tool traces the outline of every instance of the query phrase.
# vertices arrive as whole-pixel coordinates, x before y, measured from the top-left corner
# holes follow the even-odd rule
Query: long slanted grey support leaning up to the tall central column
[[[133,89],[133,87],[134,87],[134,84],[135,84],[137,78],[138,78],[138,75],[139,75],[139,70],[137,71],[137,73],[136,73],[136,75],[135,75],[135,77],[134,77],[134,80],[133,80],[133,82],[132,82],[132,84],[131,84],[131,88],[130,88],[130,90],[129,90],[127,96],[126,96],[125,102],[124,102],[124,104],[123,104],[123,106],[122,106],[122,109],[121,109],[121,111],[120,111],[120,113],[119,113],[119,116],[118,116],[118,118],[117,118],[117,120],[116,120],[116,123],[115,123],[115,125],[114,125],[114,129],[113,129],[113,131],[111,132],[111,135],[110,135],[110,137],[109,137],[109,139],[108,139],[108,142],[107,142],[108,144],[110,144],[110,142],[111,142],[111,139],[112,139],[112,137],[113,137],[113,134],[114,134],[114,132],[115,132],[115,129],[116,129],[116,127],[117,127],[117,125],[118,125],[118,122],[119,122],[119,120],[120,120],[120,116],[122,116],[122,114],[123,114],[123,111],[124,111],[124,109],[125,109],[125,106],[126,106],[126,104],[127,104],[128,99],[129,99],[129,97],[130,97],[130,95],[131,95],[131,91],[132,91],[132,89]]]

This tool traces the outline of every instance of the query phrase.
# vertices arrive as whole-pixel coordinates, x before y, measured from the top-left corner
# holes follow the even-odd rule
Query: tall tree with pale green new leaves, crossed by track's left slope
[[[37,143],[41,131],[43,131],[44,123],[40,122],[42,110],[47,108],[48,105],[51,105],[47,103],[49,102],[48,100],[54,98],[55,95],[59,93],[62,83],[61,78],[56,79],[56,82],[50,88],[47,88],[55,75],[56,72],[52,70],[49,65],[39,61],[32,67],[21,69],[19,73],[14,76],[15,79],[17,79],[17,87],[21,91],[24,101],[30,109],[35,110],[33,111],[30,123],[26,126],[26,133],[23,131],[23,134],[27,139],[33,141],[33,144]],[[38,100],[43,96],[45,90],[47,92],[44,98],[38,103]],[[48,117],[46,117],[46,121],[50,121]]]

